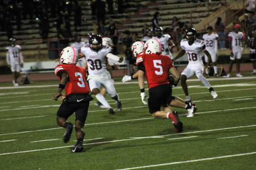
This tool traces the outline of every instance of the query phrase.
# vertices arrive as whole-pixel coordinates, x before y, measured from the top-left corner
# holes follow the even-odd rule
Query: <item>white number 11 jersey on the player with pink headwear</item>
[[[243,51],[242,38],[244,37],[244,34],[242,32],[238,32],[237,34],[234,31],[230,32],[228,37],[232,37],[232,51]]]

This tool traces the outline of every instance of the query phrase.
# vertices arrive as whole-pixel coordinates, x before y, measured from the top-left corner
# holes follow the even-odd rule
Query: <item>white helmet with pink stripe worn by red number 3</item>
[[[76,48],[66,47],[62,50],[60,54],[60,64],[66,63],[76,65],[78,58],[79,56]]]

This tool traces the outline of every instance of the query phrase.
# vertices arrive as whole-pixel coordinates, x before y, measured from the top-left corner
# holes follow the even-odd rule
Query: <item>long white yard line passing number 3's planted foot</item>
[[[242,127],[253,127],[253,126],[256,126],[256,125],[239,126],[239,127],[227,127],[227,128],[222,128],[222,129],[201,130],[201,131],[187,132],[187,133],[176,133],[176,134],[169,134],[169,135],[160,135],[159,137],[161,137],[161,136],[180,135],[180,134],[183,135],[183,134],[189,134],[189,133],[209,132],[209,131],[215,131],[215,130],[227,130],[227,129],[242,128]],[[155,137],[155,136],[147,136],[147,138],[150,138],[150,137],[152,138],[152,137]],[[87,144],[83,144],[83,145],[102,144],[102,143],[120,142],[120,141],[129,141],[129,140],[136,140],[136,139],[144,139],[144,138],[121,139],[121,140],[113,140],[113,141],[105,141],[105,142],[87,143]],[[35,152],[35,151],[40,151],[40,150],[52,150],[52,149],[59,149],[59,148],[72,147],[72,146],[52,147],[52,148],[45,148],[45,149],[38,149],[38,150],[26,150],[26,151],[20,151],[20,152],[12,152],[12,153],[0,153],[0,155],[9,155],[9,154],[14,154],[14,153]]]

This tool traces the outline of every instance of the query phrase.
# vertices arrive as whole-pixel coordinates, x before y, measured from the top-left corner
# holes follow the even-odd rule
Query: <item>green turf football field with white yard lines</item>
[[[182,133],[175,133],[168,119],[151,116],[137,80],[116,78],[122,111],[110,115],[94,105],[93,96],[81,153],[70,153],[75,130],[65,144],[65,129],[56,124],[61,102],[51,98],[58,81],[17,88],[1,83],[0,170],[255,170],[256,77],[243,75],[247,77],[209,79],[216,99],[193,81],[196,77],[187,82],[198,110],[187,118],[185,109],[172,107],[183,122]],[[185,98],[180,84],[173,95]],[[115,101],[106,99],[115,108]],[[75,115],[68,120],[74,124]]]

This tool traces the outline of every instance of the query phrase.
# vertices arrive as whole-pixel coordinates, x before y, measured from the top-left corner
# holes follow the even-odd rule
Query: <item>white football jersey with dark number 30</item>
[[[92,51],[90,45],[85,44],[81,48],[81,52],[85,55],[87,64],[88,64],[88,71],[89,75],[91,76],[98,76],[100,74],[105,73],[106,70],[106,55],[111,53],[111,47],[103,45],[103,48],[100,49],[98,52]]]

